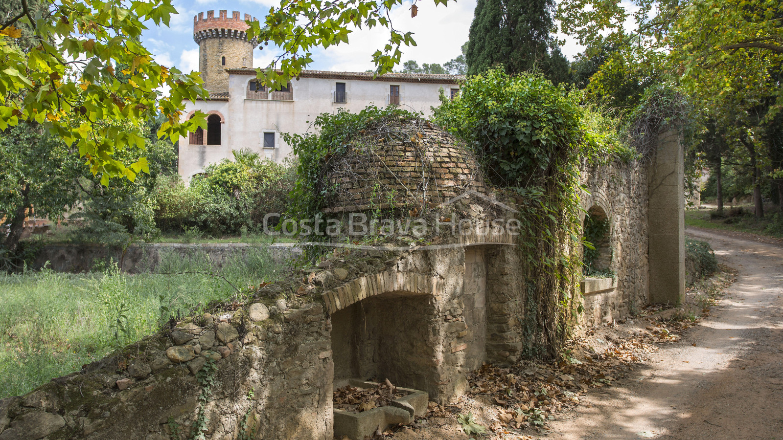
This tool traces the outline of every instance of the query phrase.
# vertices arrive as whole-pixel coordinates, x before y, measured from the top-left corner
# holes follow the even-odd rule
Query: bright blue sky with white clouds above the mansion
[[[175,0],[179,12],[172,16],[170,27],[155,27],[143,34],[146,47],[153,52],[158,63],[164,66],[176,66],[184,71],[198,70],[198,45],[193,41],[193,16],[207,10],[227,9],[250,13],[255,17],[265,16],[273,0]],[[395,28],[403,32],[413,32],[416,47],[403,47],[402,60],[416,60],[418,63],[446,63],[460,54],[460,47],[467,41],[467,31],[473,20],[475,0],[449,2],[449,7],[435,6],[435,2],[418,2],[419,11],[415,18],[410,17],[410,2],[392,10],[391,17]],[[373,68],[371,55],[382,49],[388,40],[388,31],[383,27],[373,30],[357,30],[348,36],[350,44],[337,45],[327,50],[318,50],[313,54],[314,63],[309,67],[317,70],[359,71]],[[271,50],[270,50],[271,49]],[[567,43],[563,52],[573,58],[580,52],[579,47]],[[276,55],[272,46],[263,51],[255,50],[254,67],[264,67]]]

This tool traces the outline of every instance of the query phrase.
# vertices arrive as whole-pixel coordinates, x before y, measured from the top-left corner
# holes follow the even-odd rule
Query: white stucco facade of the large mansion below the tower
[[[305,70],[298,80],[291,81],[290,95],[280,96],[278,92],[271,95],[266,92],[248,93],[248,83],[255,78],[254,70],[227,71],[228,93],[211,94],[211,99],[207,101],[198,100],[186,106],[185,117],[195,110],[217,115],[210,115],[213,121],[211,134],[207,130],[201,138],[193,139],[190,136],[179,139],[179,174],[186,182],[208,164],[233,158],[232,150],[244,147],[261,153],[262,157],[280,162],[291,154],[282,133],[304,134],[312,131],[314,128],[311,123],[319,114],[334,114],[339,108],[355,113],[370,105],[388,106],[391,99],[399,100],[399,106],[403,109],[429,116],[431,107],[440,104],[440,89],[446,96],[451,96],[452,89],[456,92],[464,78],[461,75],[437,74],[386,74],[373,78],[369,73]],[[338,83],[345,84],[345,95],[335,93]],[[399,94],[399,98],[390,98],[395,93]],[[272,99],[275,96],[283,99]],[[262,97],[267,99],[259,99]],[[221,122],[219,145],[216,145],[218,117]],[[267,146],[273,134],[273,148],[265,148],[265,133]],[[207,138],[211,145],[207,145]]]

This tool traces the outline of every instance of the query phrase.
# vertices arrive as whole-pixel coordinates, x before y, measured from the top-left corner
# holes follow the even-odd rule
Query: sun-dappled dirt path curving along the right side
[[[563,439],[783,438],[783,247],[706,229],[738,280],[713,315],[550,426]]]

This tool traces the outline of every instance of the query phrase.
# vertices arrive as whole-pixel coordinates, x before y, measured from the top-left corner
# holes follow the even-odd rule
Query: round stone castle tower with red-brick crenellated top
[[[247,23],[250,14],[240,20],[239,11],[233,11],[231,17],[226,10],[215,16],[215,11],[207,11],[193,17],[193,40],[198,43],[199,70],[204,87],[211,93],[229,91],[229,74],[226,69],[253,67],[253,49],[257,41],[247,41]],[[252,20],[255,20],[253,17]]]

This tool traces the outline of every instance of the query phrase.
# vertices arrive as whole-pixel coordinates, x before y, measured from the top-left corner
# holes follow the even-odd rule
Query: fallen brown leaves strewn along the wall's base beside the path
[[[685,302],[698,305],[698,315],[677,312],[669,316],[662,312],[672,307],[650,305],[633,318],[604,323],[567,341],[564,355],[557,362],[523,360],[509,368],[485,363],[469,375],[471,389],[466,399],[449,406],[430,402],[427,416],[406,429],[423,430],[428,426],[428,419],[468,414],[471,411],[468,402],[472,402],[473,407],[485,408],[485,416],[489,414],[484,420],[471,419],[474,424],[484,423],[488,428],[482,438],[531,440],[523,430],[549,429],[548,422],[556,420],[559,413],[579,406],[580,397],[591,389],[626,377],[660,347],[679,341],[685,330],[709,316],[709,306],[716,305],[716,298],[735,279],[733,270],[721,269],[723,272],[687,290]],[[621,329],[618,324],[624,323],[635,325]],[[395,432],[401,429],[402,425],[391,427],[373,439],[394,438]]]

